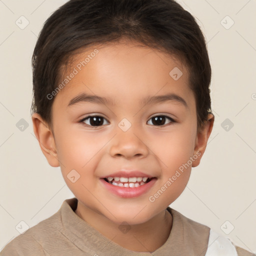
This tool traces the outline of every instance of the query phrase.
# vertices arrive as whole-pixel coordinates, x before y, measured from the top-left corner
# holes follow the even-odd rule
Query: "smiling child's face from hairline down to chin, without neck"
[[[95,48],[98,53],[91,54]],[[87,55],[87,64],[79,65]],[[173,68],[176,72],[170,76]],[[179,78],[177,68],[182,71]],[[162,52],[112,43],[79,54],[66,75],[70,81],[52,106],[54,139],[50,143],[56,153],[45,153],[49,163],[60,165],[65,182],[84,210],[130,224],[162,212],[185,188],[191,166],[199,163],[209,136],[205,130],[197,134],[195,98],[186,68]],[[81,100],[68,105],[81,93],[108,98],[113,104]],[[167,94],[178,95],[184,102],[172,96],[171,100],[142,103],[147,97]],[[101,119],[79,122],[88,115]],[[160,118],[162,115],[174,122]],[[103,177],[115,176],[120,170],[140,171],[144,174],[132,176],[154,178],[131,188],[104,181]]]

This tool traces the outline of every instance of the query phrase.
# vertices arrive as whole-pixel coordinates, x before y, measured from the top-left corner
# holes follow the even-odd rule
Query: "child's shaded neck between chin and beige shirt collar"
[[[122,225],[123,232],[120,232],[120,224],[84,207],[79,201],[74,212],[111,241],[139,252],[153,252],[162,246],[168,239],[172,227],[172,216],[167,210],[161,211],[144,223]]]

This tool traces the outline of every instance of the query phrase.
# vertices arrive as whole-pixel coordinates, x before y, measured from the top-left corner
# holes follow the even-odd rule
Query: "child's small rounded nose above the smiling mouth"
[[[109,153],[112,157],[146,157],[149,149],[145,139],[134,132],[133,129],[127,131],[117,131],[110,145]]]

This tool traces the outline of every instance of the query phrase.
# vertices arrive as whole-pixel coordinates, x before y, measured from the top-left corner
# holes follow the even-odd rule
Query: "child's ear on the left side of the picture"
[[[38,113],[32,114],[34,134],[39,142],[42,153],[52,167],[58,167],[57,151],[52,131]]]

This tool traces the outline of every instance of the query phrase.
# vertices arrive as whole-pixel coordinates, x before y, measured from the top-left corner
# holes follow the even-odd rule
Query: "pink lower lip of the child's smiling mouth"
[[[156,181],[156,178],[152,178],[149,182],[143,185],[140,185],[138,187],[115,186],[108,183],[103,178],[100,178],[99,180],[102,182],[105,188],[108,189],[110,192],[123,198],[131,198],[131,197],[138,197],[143,193],[146,193],[153,186],[153,184]]]

